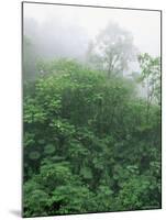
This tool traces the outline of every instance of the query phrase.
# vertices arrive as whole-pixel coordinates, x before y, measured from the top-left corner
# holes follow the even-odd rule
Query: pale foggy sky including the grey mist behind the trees
[[[41,57],[71,57],[85,61],[88,45],[108,25],[129,31],[140,53],[161,54],[161,13],[56,4],[24,3],[23,34]],[[137,69],[136,62],[131,63]]]

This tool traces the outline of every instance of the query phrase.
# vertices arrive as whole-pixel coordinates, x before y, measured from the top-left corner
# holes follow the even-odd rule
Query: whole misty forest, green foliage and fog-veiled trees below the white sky
[[[161,208],[161,57],[111,21],[24,28],[23,216]]]

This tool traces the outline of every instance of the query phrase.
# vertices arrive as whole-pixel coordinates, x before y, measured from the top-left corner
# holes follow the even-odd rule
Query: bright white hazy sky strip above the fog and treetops
[[[24,18],[36,20],[40,25],[56,22],[58,25],[77,25],[89,38],[111,22],[130,31],[134,44],[142,53],[158,56],[161,53],[161,13],[158,11],[101,9],[87,7],[67,7],[56,4],[24,3]]]

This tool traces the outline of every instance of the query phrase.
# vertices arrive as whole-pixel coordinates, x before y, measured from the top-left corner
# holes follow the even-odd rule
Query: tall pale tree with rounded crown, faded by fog
[[[108,76],[123,74],[136,57],[136,51],[131,33],[117,23],[109,23],[89,44],[88,61],[97,68],[107,70]]]

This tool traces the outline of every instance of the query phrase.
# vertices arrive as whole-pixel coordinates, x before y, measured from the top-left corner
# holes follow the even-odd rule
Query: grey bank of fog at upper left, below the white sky
[[[89,37],[78,25],[65,25],[58,20],[46,20],[41,24],[34,19],[25,19],[24,24],[24,35],[37,46],[41,56],[81,59],[87,51]]]

